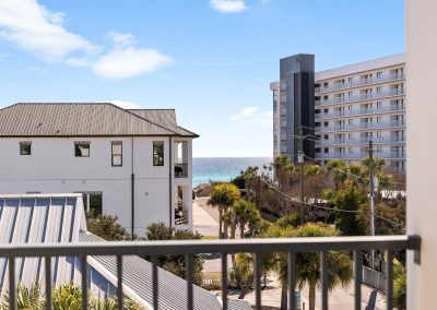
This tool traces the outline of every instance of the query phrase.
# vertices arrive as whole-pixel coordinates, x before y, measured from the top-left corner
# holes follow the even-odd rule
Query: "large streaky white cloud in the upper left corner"
[[[98,49],[63,28],[63,17],[36,0],[1,0],[0,37],[49,62],[61,61],[74,51],[92,53]]]

